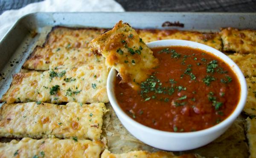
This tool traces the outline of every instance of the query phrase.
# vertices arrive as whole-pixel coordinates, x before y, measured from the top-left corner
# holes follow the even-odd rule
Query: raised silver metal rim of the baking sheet
[[[12,74],[20,71],[26,58],[38,44],[46,27],[111,28],[119,20],[137,29],[180,29],[215,32],[221,27],[256,29],[256,13],[184,13],[184,12],[88,12],[32,13],[21,17],[0,41],[0,97],[7,91]],[[184,27],[162,27],[166,21]]]

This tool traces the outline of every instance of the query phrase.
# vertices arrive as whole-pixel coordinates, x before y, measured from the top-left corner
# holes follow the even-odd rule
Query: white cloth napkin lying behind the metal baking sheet
[[[8,10],[0,15],[0,39],[23,15],[33,12],[89,12],[89,11],[125,11],[114,0],[44,0],[31,3],[21,9]]]

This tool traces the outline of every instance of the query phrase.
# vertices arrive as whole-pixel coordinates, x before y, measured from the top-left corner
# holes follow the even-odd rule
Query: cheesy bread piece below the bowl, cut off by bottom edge
[[[147,152],[147,151],[132,151],[123,154],[113,154],[107,149],[101,155],[101,158],[201,158],[197,155],[180,155],[175,156],[172,152]]]

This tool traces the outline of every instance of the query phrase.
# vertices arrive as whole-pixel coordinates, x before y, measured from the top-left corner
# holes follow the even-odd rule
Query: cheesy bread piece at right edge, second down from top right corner
[[[235,53],[228,55],[228,57],[239,66],[246,78],[256,76],[256,54],[241,55]]]

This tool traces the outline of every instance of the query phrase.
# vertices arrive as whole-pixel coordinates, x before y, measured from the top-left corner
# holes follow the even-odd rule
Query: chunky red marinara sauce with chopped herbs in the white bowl
[[[119,106],[135,121],[163,131],[191,132],[220,123],[236,108],[239,81],[220,58],[183,46],[152,51],[159,66],[139,90],[115,80]]]

